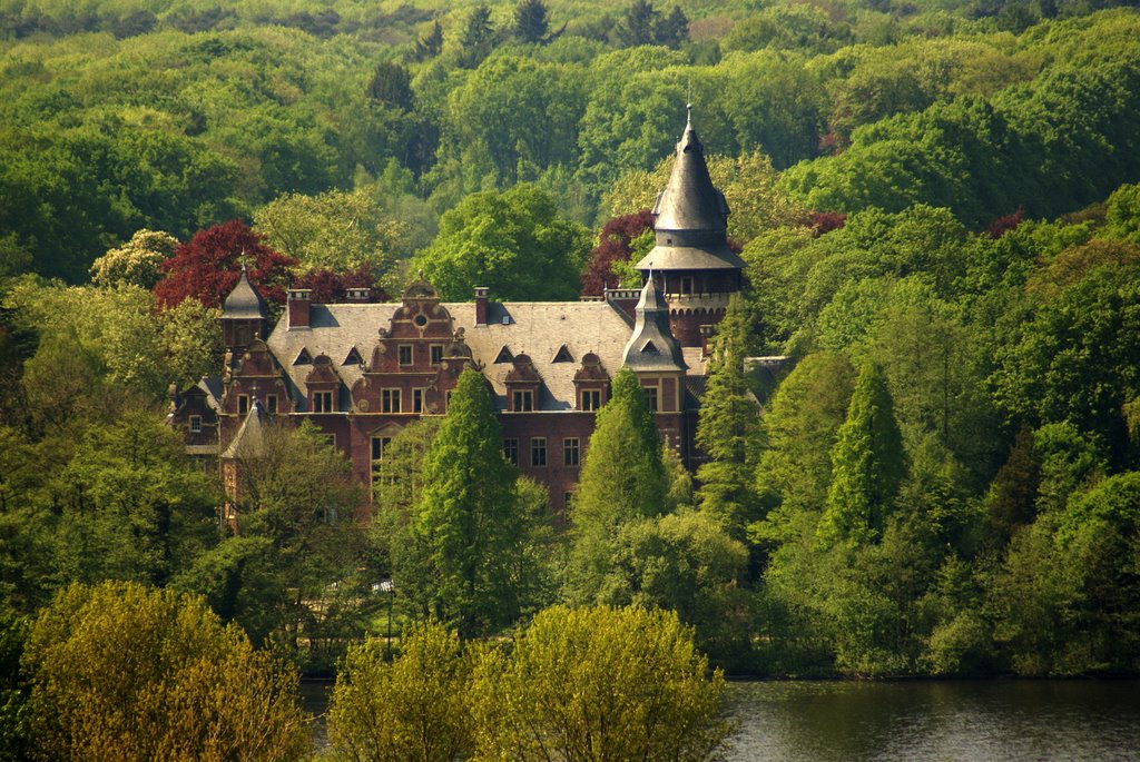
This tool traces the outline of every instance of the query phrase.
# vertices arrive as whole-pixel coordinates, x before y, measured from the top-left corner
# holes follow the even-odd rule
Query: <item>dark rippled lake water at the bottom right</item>
[[[733,762],[1140,759],[1140,682],[734,682]]]

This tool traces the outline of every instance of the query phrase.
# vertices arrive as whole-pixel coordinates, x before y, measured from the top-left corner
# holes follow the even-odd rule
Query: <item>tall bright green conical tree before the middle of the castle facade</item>
[[[465,370],[424,459],[423,495],[412,523],[432,583],[423,605],[470,637],[505,626],[519,611],[513,563],[523,543],[516,474],[483,377]]]

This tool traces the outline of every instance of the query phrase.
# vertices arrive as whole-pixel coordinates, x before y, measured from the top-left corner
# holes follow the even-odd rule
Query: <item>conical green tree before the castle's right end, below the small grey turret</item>
[[[565,596],[594,600],[612,564],[613,541],[626,522],[668,508],[669,478],[661,436],[645,392],[632,370],[613,377],[613,394],[597,411],[594,434],[570,510],[572,523]]]

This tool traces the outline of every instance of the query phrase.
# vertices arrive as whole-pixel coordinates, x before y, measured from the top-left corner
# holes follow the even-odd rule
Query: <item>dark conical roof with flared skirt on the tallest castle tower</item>
[[[728,248],[728,204],[712,186],[692,107],[687,108],[669,185],[653,206],[657,246],[637,269],[645,271],[651,264],[657,270],[743,269],[743,261]]]

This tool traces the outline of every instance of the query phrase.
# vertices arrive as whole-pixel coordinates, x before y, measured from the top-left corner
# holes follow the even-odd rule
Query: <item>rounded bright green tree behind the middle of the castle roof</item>
[[[560,219],[549,196],[522,185],[464,198],[413,265],[443,300],[465,300],[474,286],[500,300],[571,300],[589,246],[585,228]]]

